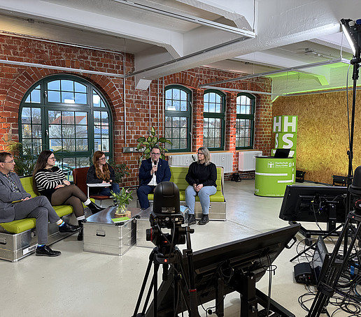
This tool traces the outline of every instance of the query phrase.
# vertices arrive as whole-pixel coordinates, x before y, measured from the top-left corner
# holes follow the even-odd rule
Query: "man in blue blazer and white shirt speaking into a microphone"
[[[141,186],[136,191],[141,209],[149,207],[148,193],[153,193],[155,186],[161,182],[169,182],[171,169],[168,162],[160,158],[160,148],[155,145],[150,150],[150,158],[141,162],[139,180]]]

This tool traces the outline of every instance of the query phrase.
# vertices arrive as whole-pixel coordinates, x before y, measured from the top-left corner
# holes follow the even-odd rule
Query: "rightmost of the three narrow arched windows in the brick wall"
[[[236,99],[236,149],[253,149],[255,96],[240,93]]]

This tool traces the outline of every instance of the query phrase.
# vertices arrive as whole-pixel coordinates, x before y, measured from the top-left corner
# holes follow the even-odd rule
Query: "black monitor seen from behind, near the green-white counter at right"
[[[346,187],[288,185],[279,217],[287,221],[327,223],[332,206],[336,208],[337,223],[344,223],[346,196]]]

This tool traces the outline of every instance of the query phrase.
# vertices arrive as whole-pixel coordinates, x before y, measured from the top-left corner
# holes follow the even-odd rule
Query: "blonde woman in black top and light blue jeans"
[[[199,225],[205,225],[209,222],[208,213],[211,205],[209,196],[217,191],[217,168],[211,163],[211,154],[206,147],[199,147],[198,161],[190,164],[185,180],[190,184],[185,189],[185,203],[188,207],[188,224],[196,223],[194,217],[195,196],[198,195],[201,202],[203,216],[198,222]]]

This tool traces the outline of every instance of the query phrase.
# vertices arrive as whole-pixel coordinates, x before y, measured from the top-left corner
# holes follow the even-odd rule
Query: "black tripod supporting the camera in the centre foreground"
[[[185,303],[188,314],[191,317],[199,317],[198,313],[198,304],[197,304],[197,290],[194,287],[194,274],[193,274],[193,253],[190,244],[190,233],[194,233],[194,229],[190,229],[189,226],[180,228],[180,230],[185,230],[185,235],[187,239],[187,249],[185,250],[185,256],[187,256],[188,264],[188,277],[189,281],[185,281],[183,278],[185,274],[183,264],[182,264],[182,254],[179,249],[175,246],[174,249],[171,245],[164,244],[162,246],[155,246],[153,251],[150,253],[149,262],[146,270],[146,274],[143,279],[141,286],[141,291],[139,293],[138,300],[136,302],[136,308],[134,310],[133,317],[156,317],[156,316],[176,316],[178,312],[178,304]],[[161,231],[160,231],[161,232]],[[162,234],[163,235],[163,234]],[[167,235],[171,237],[172,235]],[[164,235],[165,237],[165,235]],[[166,240],[168,241],[167,237]],[[165,251],[165,252],[164,252]],[[146,295],[146,300],[143,305],[143,311],[138,314],[139,307],[141,305],[141,300],[146,289],[146,284],[150,274],[150,269],[154,265],[153,279],[150,282],[148,293]],[[157,272],[160,268],[160,265],[163,267],[162,280],[166,285],[158,290],[157,287]],[[171,265],[171,267],[169,267]],[[162,284],[163,285],[163,284]],[[161,307],[163,298],[167,296],[167,290],[174,289],[173,297],[173,307]],[[153,289],[153,302],[148,308],[148,302],[150,300],[150,295]],[[165,291],[164,291],[165,290]],[[159,297],[160,298],[159,298]],[[160,303],[160,304],[158,304]]]

